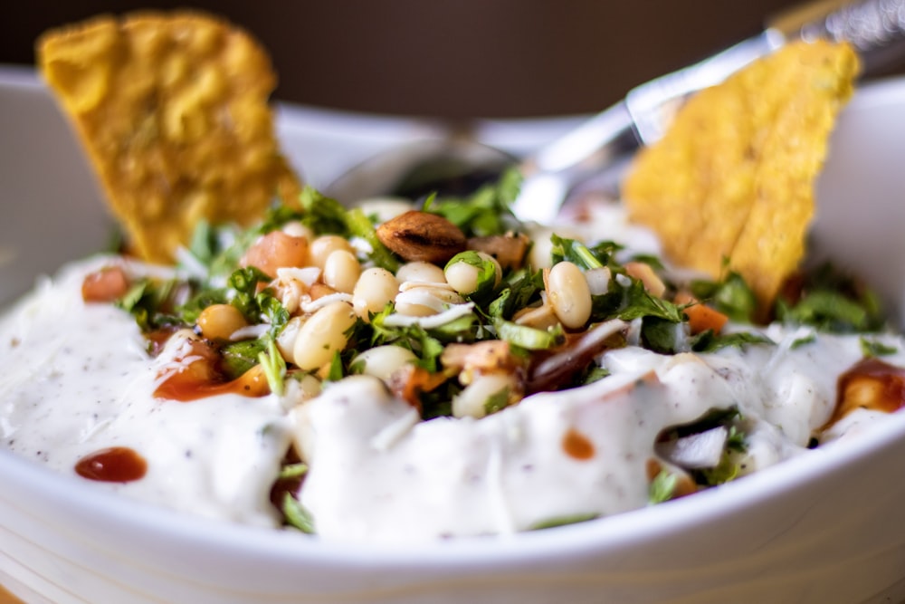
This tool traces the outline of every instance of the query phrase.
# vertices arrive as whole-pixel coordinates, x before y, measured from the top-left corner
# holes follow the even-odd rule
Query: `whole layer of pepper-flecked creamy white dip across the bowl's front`
[[[180,340],[152,357],[127,312],[82,302],[85,275],[110,263],[132,275],[160,272],[107,257],[73,264],[0,324],[0,446],[70,475],[86,455],[127,447],[147,462],[147,474],[99,488],[277,526],[271,486],[295,437],[310,465],[300,501],[321,539],[517,532],[642,507],[657,436],[713,408],[738,407],[746,418],[741,467],[752,472],[806,450],[834,412],[837,377],[862,359],[858,336],[774,325],[764,334],[775,344],[712,354],[611,350],[599,359],[608,378],[529,396],[481,419],[420,421],[368,376],[300,404],[292,393],[179,402],[153,393],[187,362]],[[898,338],[877,339],[905,350]],[[905,364],[901,352],[888,360]],[[853,413],[825,438],[882,415]]]

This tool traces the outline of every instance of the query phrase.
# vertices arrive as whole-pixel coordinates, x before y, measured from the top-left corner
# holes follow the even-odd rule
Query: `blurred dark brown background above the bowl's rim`
[[[276,98],[347,110],[525,117],[603,109],[632,86],[750,34],[793,0],[31,0],[7,7],[0,63],[44,29],[193,6],[270,49]]]

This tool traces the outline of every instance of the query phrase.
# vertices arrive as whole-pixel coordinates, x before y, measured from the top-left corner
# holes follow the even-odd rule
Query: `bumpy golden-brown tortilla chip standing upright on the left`
[[[267,104],[270,59],[233,25],[105,15],[43,34],[37,55],[142,258],[171,261],[201,218],[247,225],[297,195]]]

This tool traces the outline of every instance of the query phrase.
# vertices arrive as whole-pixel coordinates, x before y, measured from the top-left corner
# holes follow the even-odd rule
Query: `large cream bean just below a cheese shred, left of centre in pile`
[[[348,343],[346,331],[355,324],[355,312],[346,302],[330,302],[310,316],[295,339],[292,358],[300,369],[318,369]]]

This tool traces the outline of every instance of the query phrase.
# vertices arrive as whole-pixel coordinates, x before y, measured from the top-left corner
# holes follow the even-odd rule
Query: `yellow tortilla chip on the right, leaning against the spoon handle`
[[[792,43],[691,98],[624,181],[676,264],[740,273],[770,304],[805,254],[814,181],[853,93],[847,44]]]

